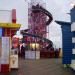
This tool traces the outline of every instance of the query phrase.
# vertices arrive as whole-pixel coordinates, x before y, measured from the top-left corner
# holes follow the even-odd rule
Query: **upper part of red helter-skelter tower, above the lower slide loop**
[[[46,38],[47,26],[52,21],[52,15],[45,9],[45,0],[30,0],[28,5],[28,27],[29,33]],[[47,16],[49,19],[47,20]],[[32,41],[38,42],[38,37],[33,38]]]

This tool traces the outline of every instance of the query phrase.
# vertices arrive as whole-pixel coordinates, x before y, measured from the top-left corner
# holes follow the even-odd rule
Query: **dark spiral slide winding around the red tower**
[[[45,8],[43,8],[43,7],[40,6],[39,4],[37,4],[36,6],[33,5],[31,11],[32,11],[31,15],[32,15],[32,14],[36,15],[36,14],[38,14],[38,13],[42,13],[42,14],[45,15],[46,18],[47,18],[47,17],[49,18],[49,19],[45,22],[45,27],[48,26],[48,25],[52,22],[52,20],[53,20],[53,17],[52,17],[52,15],[51,15],[51,13],[48,12]],[[33,16],[31,16],[31,17],[33,17]],[[41,17],[40,17],[40,18],[41,18]],[[45,20],[46,20],[46,18],[45,18]],[[38,26],[39,26],[39,28],[40,28],[40,25],[38,25]],[[43,26],[43,25],[42,25],[42,26]],[[32,29],[32,28],[31,28],[31,29]],[[40,39],[43,43],[46,42],[46,43],[48,44],[47,46],[44,47],[45,49],[47,49],[47,50],[53,49],[53,43],[52,43],[51,40],[47,39],[46,37],[40,36],[40,34],[39,34],[39,35],[36,34],[36,32],[35,32],[35,33],[31,33],[31,32],[30,32],[31,29],[22,30],[22,31],[21,31],[21,34],[23,35],[23,37],[28,36],[28,37],[34,37],[35,39],[36,39],[36,38],[37,38],[37,39]],[[35,30],[36,30],[36,29],[34,28],[33,31],[35,31]],[[41,30],[41,29],[40,29],[40,30]],[[39,32],[39,30],[38,30],[38,32]]]

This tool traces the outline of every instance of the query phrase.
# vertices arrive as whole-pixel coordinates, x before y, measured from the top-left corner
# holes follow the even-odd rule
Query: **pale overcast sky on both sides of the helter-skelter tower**
[[[62,32],[61,26],[56,24],[54,21],[66,21],[70,22],[71,3],[74,0],[46,0],[46,9],[51,12],[53,21],[49,25],[49,36],[55,47],[62,47]],[[22,29],[28,28],[28,5],[27,0],[0,0],[0,10],[11,10],[16,9],[17,11],[17,23],[21,24]],[[17,32],[19,35],[19,32]]]

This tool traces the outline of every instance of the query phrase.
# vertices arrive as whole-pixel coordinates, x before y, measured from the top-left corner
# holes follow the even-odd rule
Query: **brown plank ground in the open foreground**
[[[5,74],[0,74],[5,75]],[[7,75],[75,75],[63,68],[61,59],[24,60],[19,59],[19,69]]]

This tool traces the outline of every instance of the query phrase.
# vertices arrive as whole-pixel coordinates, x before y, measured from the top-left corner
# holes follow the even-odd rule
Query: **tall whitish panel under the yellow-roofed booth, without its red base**
[[[9,64],[10,39],[2,37],[2,56],[1,64]]]

